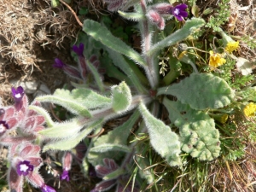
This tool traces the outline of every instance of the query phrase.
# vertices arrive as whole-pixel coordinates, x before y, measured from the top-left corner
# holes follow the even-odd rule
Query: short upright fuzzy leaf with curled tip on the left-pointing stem
[[[121,82],[119,85],[113,85],[111,87],[112,92],[112,108],[116,113],[122,113],[131,105],[131,90],[125,84]]]

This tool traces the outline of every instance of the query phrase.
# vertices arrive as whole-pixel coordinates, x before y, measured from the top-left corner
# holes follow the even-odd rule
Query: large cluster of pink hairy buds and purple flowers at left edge
[[[38,172],[43,160],[40,156],[41,147],[35,145],[34,141],[38,131],[44,130],[44,116],[28,108],[27,96],[21,86],[11,90],[15,105],[0,108],[0,144],[9,147],[9,189],[22,192],[26,178],[26,181],[44,192],[55,192],[55,189],[44,183]],[[40,103],[33,102],[32,105],[40,106]],[[16,136],[9,134],[9,131],[17,128],[19,131]]]

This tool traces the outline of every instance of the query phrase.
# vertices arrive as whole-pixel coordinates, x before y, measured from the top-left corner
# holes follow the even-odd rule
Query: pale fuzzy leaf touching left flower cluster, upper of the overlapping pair
[[[45,138],[54,139],[73,137],[84,125],[84,118],[74,118],[64,123],[55,123],[55,125],[50,128],[38,131],[38,134]]]

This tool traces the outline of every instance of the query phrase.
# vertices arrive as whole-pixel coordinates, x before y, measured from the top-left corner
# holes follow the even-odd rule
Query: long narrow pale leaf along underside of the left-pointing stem
[[[102,119],[97,120],[96,122],[92,123],[88,127],[85,127],[83,131],[80,131],[73,137],[68,137],[65,140],[53,141],[47,143],[44,146],[43,152],[48,150],[70,150],[74,148],[79,142],[81,142],[84,137],[88,136],[91,131],[95,130],[96,127],[102,126]]]

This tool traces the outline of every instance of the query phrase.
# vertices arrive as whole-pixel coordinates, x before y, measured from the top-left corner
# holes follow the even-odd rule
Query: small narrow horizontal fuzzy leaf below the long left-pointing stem
[[[96,153],[104,153],[104,152],[108,152],[108,151],[120,151],[120,152],[130,153],[131,148],[129,148],[125,145],[104,143],[104,144],[96,146],[94,148],[90,148],[90,151],[96,152]]]

